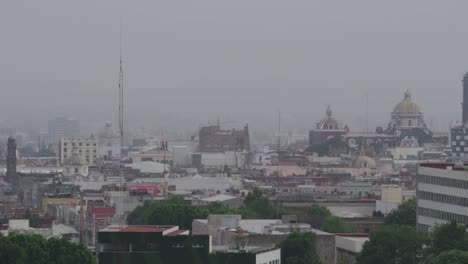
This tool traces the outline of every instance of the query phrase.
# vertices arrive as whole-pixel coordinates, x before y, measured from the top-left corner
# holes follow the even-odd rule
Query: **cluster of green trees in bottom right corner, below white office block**
[[[468,264],[468,232],[456,222],[416,230],[416,200],[401,204],[370,233],[357,262],[361,264]]]

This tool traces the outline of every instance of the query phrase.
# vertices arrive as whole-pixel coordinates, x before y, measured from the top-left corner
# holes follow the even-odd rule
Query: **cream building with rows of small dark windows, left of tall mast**
[[[74,152],[88,166],[95,166],[98,159],[99,147],[98,141],[95,139],[83,138],[62,138],[59,144],[60,164],[64,164],[65,160],[70,158]]]

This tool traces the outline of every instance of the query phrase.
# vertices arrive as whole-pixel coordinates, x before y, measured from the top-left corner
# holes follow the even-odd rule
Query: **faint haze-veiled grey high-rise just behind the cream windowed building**
[[[78,121],[67,117],[49,120],[49,144],[57,144],[63,137],[78,137]]]

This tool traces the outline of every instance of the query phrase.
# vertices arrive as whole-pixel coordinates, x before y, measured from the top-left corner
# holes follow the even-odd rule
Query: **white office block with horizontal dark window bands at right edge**
[[[468,224],[468,171],[463,164],[422,163],[417,176],[417,228]]]

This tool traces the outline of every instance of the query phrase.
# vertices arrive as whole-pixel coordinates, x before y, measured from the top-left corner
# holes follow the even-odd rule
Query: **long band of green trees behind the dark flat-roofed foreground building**
[[[243,219],[279,219],[282,215],[297,215],[299,222],[308,222],[313,228],[330,233],[355,233],[356,226],[345,223],[341,218],[319,205],[313,205],[304,214],[301,211],[279,207],[265,197],[259,189],[249,193],[244,205],[231,209],[221,203],[200,207],[173,196],[165,201],[146,201],[130,213],[127,223],[131,225],[178,225],[191,229],[194,219],[206,219],[210,214],[239,214]],[[305,221],[307,219],[307,221]]]

